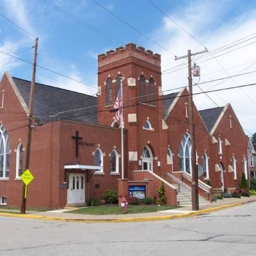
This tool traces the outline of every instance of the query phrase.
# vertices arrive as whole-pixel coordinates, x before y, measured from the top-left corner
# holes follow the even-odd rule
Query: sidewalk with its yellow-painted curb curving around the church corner
[[[189,217],[206,212],[218,211],[228,207],[246,204],[256,201],[256,196],[242,198],[224,198],[212,204],[202,205],[199,211],[192,211],[191,207],[181,207],[173,210],[160,212],[134,213],[134,214],[117,214],[117,215],[91,215],[67,213],[65,210],[56,210],[49,212],[29,212],[27,214],[13,214],[14,210],[4,210],[0,216],[10,216],[18,218],[39,219],[39,220],[59,220],[71,222],[129,222],[129,221],[146,221],[146,220],[166,220],[182,217]],[[0,210],[1,211],[1,210]],[[70,211],[70,210],[67,210]],[[18,212],[18,211],[17,211]]]

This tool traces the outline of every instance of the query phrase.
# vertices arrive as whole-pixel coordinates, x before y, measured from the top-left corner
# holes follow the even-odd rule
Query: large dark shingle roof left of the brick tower
[[[12,77],[12,79],[27,106],[29,106],[31,82],[16,77]],[[97,111],[97,107],[71,111],[54,117],[49,117],[49,115],[54,115],[61,111],[86,108],[96,106],[97,104],[97,97],[79,92],[68,91],[66,89],[61,89],[50,85],[38,83],[35,84],[33,112],[35,113],[34,116],[40,117],[41,122],[66,118],[67,120],[97,124],[97,113],[79,116],[82,114],[95,112]]]

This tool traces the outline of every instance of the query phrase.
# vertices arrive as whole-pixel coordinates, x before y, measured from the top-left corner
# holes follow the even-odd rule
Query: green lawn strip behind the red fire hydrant
[[[128,205],[128,213],[143,213],[143,212],[158,212],[169,209],[179,208],[179,206],[171,205]],[[66,212],[65,212],[66,213]],[[117,205],[102,205],[102,206],[90,206],[87,208],[80,208],[75,211],[68,211],[67,213],[79,213],[79,214],[94,214],[94,215],[106,215],[106,214],[122,214],[121,206]],[[127,213],[127,214],[128,214]]]

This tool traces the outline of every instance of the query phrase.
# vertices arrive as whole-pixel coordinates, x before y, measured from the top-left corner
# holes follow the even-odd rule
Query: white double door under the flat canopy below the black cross
[[[85,203],[85,175],[70,173],[68,177],[68,204]]]

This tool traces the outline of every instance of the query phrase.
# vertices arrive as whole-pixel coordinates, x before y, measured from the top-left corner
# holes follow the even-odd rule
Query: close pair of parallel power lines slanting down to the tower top
[[[62,13],[64,16],[68,17],[69,19],[76,21],[78,24],[84,26],[85,28],[90,29],[92,32],[94,32],[94,33],[96,33],[96,34],[98,34],[98,35],[104,37],[105,39],[107,39],[107,40],[109,40],[109,41],[111,41],[111,42],[113,42],[113,43],[115,43],[115,42],[113,41],[113,40],[115,40],[115,41],[118,42],[118,43],[124,44],[124,43],[120,42],[119,40],[117,40],[116,38],[114,38],[114,37],[108,35],[107,33],[103,32],[103,31],[101,31],[100,29],[98,29],[98,28],[96,28],[96,27],[90,25],[89,23],[85,22],[84,20],[81,20],[81,19],[77,18],[76,16],[72,15],[71,13],[69,13],[69,12],[67,12],[67,11],[65,11],[65,10],[63,10],[63,9],[61,9],[61,8],[58,7],[57,5],[54,5],[54,4],[52,4],[52,3],[50,3],[50,2],[48,2],[48,1],[46,1],[46,0],[39,0],[39,1],[42,2],[43,4],[46,4],[47,6],[51,7],[51,8],[54,9],[55,11]],[[105,35],[105,36],[101,35],[100,33],[96,32],[95,30],[96,30],[96,31],[99,31],[100,33],[102,33],[102,34]],[[109,38],[112,38],[113,40],[109,39],[109,38],[106,37],[106,36],[108,36]]]

